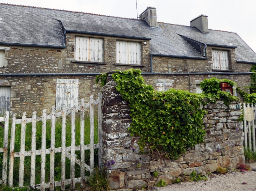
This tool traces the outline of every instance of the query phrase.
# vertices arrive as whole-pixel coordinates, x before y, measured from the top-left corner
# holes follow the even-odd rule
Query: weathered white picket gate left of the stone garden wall
[[[11,127],[11,140],[10,140],[10,154],[9,154],[9,178],[8,185],[13,187],[13,164],[14,157],[20,157],[19,166],[19,187],[23,187],[24,177],[24,159],[25,156],[31,156],[31,183],[30,186],[33,189],[40,189],[44,191],[46,188],[50,188],[51,191],[54,187],[61,186],[61,190],[65,190],[65,185],[70,185],[70,189],[75,188],[75,183],[80,183],[81,187],[85,186],[87,177],[85,177],[85,170],[90,172],[94,169],[94,149],[99,149],[99,167],[102,167],[102,115],[101,115],[101,100],[102,94],[99,94],[97,100],[93,100],[93,96],[90,96],[90,102],[84,103],[84,99],[81,99],[81,105],[72,109],[66,110],[66,106],[63,104],[61,112],[55,112],[55,106],[52,108],[50,115],[46,114],[46,109],[43,109],[43,114],[40,117],[36,116],[36,111],[33,112],[32,118],[26,118],[26,112],[23,112],[22,119],[16,119],[16,114],[12,116]],[[94,144],[94,105],[98,105],[98,131],[99,131],[99,143]],[[90,109],[90,145],[85,145],[85,108]],[[75,145],[75,113],[80,111],[80,145]],[[66,147],[66,115],[71,113],[71,146]],[[55,148],[55,120],[58,117],[62,117],[61,127],[61,147]],[[51,143],[50,148],[46,149],[46,120],[51,119]],[[36,122],[42,121],[42,145],[40,150],[36,150]],[[0,153],[3,153],[2,164],[2,180],[0,184],[7,184],[7,170],[8,170],[8,124],[9,124],[9,111],[5,112],[5,117],[0,118],[0,122],[5,122],[4,127],[4,146],[0,148]],[[31,150],[25,151],[25,136],[26,136],[26,124],[32,123],[32,145]],[[21,124],[21,144],[20,152],[14,152],[15,141],[15,125]],[[75,151],[80,150],[81,160],[75,157]],[[90,150],[90,164],[85,164],[85,150]],[[54,155],[55,153],[61,153],[61,181],[54,181]],[[45,182],[45,164],[46,154],[50,154],[50,182]],[[41,183],[35,185],[35,157],[41,155]],[[70,179],[65,178],[65,165],[66,157],[70,159]],[[81,176],[75,178],[75,163],[81,167]],[[48,170],[48,169],[47,169]]]

